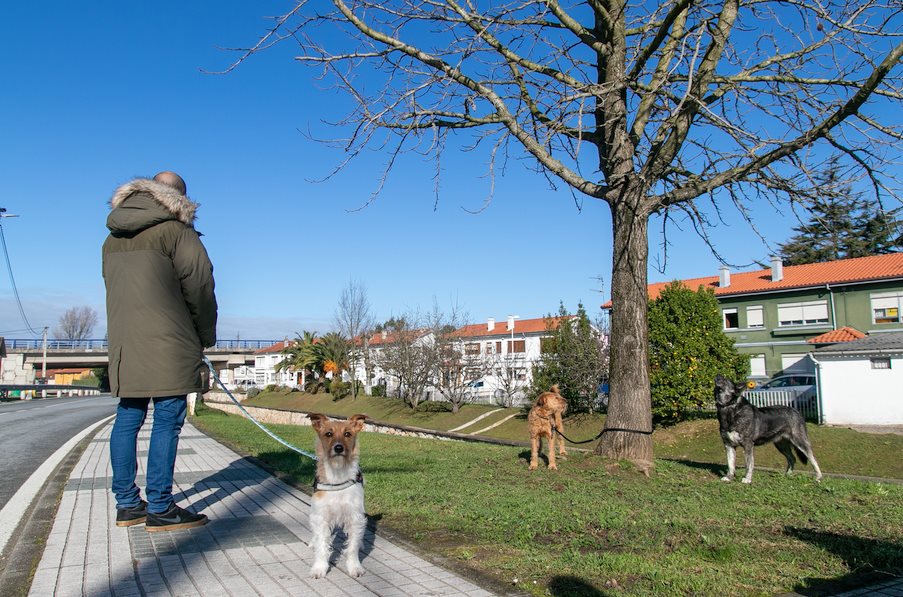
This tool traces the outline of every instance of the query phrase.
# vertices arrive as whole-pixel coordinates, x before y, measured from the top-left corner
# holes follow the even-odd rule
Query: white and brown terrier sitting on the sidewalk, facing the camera
[[[326,576],[332,531],[345,530],[345,567],[350,576],[364,573],[360,550],[367,527],[364,514],[364,476],[359,465],[357,434],[364,428],[365,415],[346,421],[334,421],[320,414],[309,414],[317,433],[317,474],[310,508],[314,563],[311,578]]]

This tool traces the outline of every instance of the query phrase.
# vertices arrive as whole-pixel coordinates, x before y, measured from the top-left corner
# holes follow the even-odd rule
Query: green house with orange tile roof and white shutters
[[[869,335],[903,330],[903,253],[731,272],[681,280],[696,290],[711,288],[724,331],[750,359],[751,377],[811,371],[810,342],[827,332],[852,328]],[[656,298],[669,283],[650,284]],[[611,308],[611,303],[603,305]]]

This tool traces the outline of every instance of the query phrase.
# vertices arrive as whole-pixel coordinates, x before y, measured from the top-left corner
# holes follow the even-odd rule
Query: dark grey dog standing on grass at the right
[[[734,383],[724,376],[715,377],[715,406],[718,409],[718,426],[721,440],[727,449],[727,475],[722,481],[732,481],[736,465],[737,446],[743,447],[746,455],[746,475],[744,483],[752,483],[753,446],[774,443],[787,459],[787,474],[793,471],[796,462],[793,452],[806,464],[812,463],[815,480],[821,481],[821,469],[812,453],[806,421],[799,411],[789,406],[766,406],[758,408],[743,396],[746,384]]]

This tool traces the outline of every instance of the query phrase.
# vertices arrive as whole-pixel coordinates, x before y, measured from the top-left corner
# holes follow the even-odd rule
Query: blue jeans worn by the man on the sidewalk
[[[135,508],[141,492],[135,485],[138,474],[138,430],[147,418],[150,398],[120,398],[116,422],[110,433],[110,462],[113,465],[113,494],[116,508]],[[179,433],[185,423],[185,396],[154,398],[154,426],[147,452],[147,510],[166,512],[173,505],[172,475],[176,467]]]

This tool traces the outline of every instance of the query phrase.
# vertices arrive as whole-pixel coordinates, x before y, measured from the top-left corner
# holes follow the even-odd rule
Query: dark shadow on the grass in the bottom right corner
[[[784,527],[784,534],[843,559],[850,572],[835,578],[807,578],[800,595],[835,595],[903,575],[903,543],[865,539],[815,529]]]

